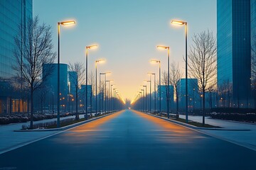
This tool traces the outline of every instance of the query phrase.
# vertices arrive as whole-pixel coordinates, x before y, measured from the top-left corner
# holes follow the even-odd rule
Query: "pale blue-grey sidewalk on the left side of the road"
[[[80,118],[83,118],[84,115],[80,115]],[[60,120],[66,118],[75,118],[75,115],[67,116],[64,118],[60,118]],[[45,123],[56,120],[48,119],[48,120],[39,120],[34,123]],[[58,131],[46,131],[46,132],[14,132],[14,130],[20,130],[22,125],[29,125],[30,122],[27,123],[14,123],[10,125],[0,125],[0,154],[8,151],[9,149],[15,149],[22,145],[26,145],[32,141],[40,140],[43,137],[48,137],[50,135],[54,135],[58,133]]]

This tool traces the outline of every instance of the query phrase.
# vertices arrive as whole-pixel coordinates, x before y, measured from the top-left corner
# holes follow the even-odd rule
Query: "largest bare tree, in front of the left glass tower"
[[[33,128],[33,94],[39,89],[42,82],[50,75],[52,70],[48,67],[43,72],[43,64],[53,63],[56,53],[53,52],[52,33],[50,26],[46,23],[40,25],[39,18],[36,16],[28,18],[26,27],[19,26],[20,32],[23,30],[24,36],[16,35],[14,56],[16,64],[14,69],[22,73],[22,79],[26,81],[30,89],[31,101],[31,128]]]

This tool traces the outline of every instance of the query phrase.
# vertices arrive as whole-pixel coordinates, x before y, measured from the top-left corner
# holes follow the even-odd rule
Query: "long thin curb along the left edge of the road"
[[[117,112],[114,112],[114,113],[117,113]],[[104,118],[108,115],[112,115],[114,113],[109,113],[107,115],[101,115],[97,118],[91,118],[89,120],[84,120],[80,123],[75,123],[75,124],[72,124],[72,125],[67,125],[67,126],[64,126],[62,128],[52,128],[52,129],[33,129],[33,130],[14,130],[14,132],[46,132],[46,131],[62,131],[62,130],[68,130],[70,128],[75,128],[76,126],[79,126],[79,125],[83,125],[85,123],[90,123],[91,121],[93,120],[97,120],[97,119],[100,119],[100,118]]]

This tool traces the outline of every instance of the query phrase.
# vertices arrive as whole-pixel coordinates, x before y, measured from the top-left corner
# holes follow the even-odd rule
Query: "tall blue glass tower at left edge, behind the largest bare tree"
[[[26,28],[27,19],[32,18],[32,3],[32,0],[0,1],[0,113],[27,110],[26,104],[21,100],[21,86],[14,81],[16,72],[12,67],[16,63],[14,37],[22,35],[18,26]]]

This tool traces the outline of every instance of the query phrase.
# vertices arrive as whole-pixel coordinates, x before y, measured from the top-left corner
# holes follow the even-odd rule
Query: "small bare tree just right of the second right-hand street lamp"
[[[178,64],[175,62],[171,63],[171,70],[170,70],[171,78],[170,83],[174,86],[175,96],[176,96],[176,118],[178,118],[178,81],[180,81],[182,77],[181,70],[178,68]]]

